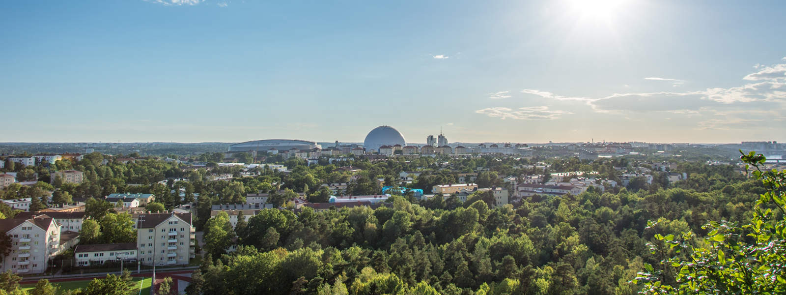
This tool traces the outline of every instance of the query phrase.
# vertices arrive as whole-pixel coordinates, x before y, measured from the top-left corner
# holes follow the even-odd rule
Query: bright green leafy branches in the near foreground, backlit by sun
[[[711,221],[702,227],[708,234],[700,240],[690,232],[681,238],[656,234],[656,242],[648,246],[663,260],[659,267],[645,264],[645,271],[633,280],[645,282],[640,293],[786,293],[786,170],[762,170],[764,155],[740,153],[746,171],[752,170],[766,188],[750,222],[740,227]]]

